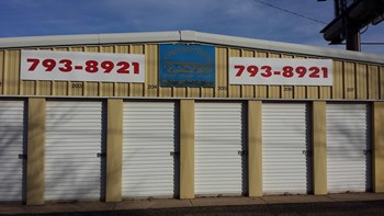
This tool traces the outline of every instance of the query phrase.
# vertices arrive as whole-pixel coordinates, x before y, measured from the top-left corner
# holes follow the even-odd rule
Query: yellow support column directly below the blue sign
[[[194,198],[194,101],[180,101],[180,198]]]

